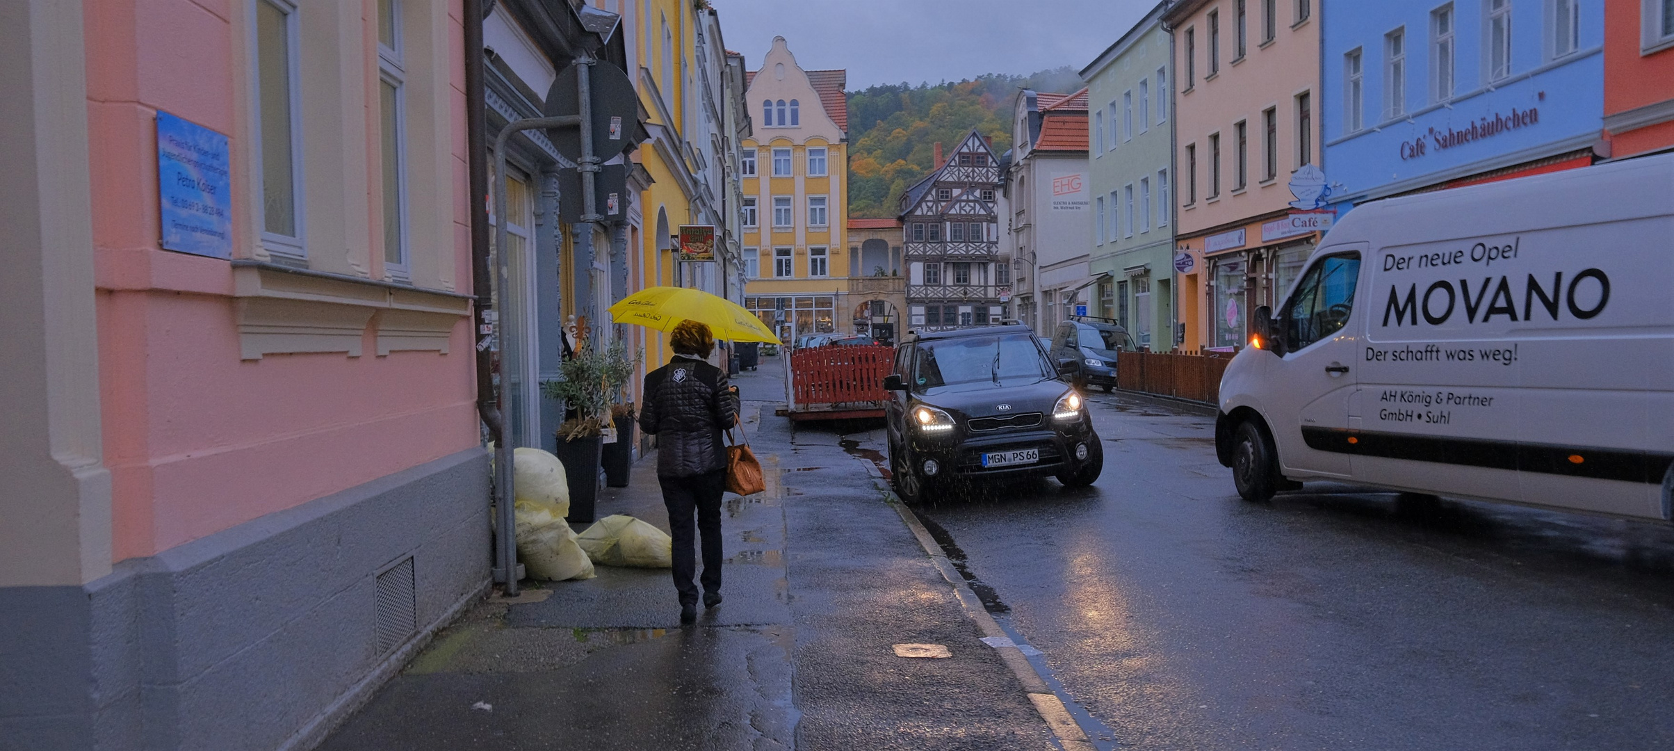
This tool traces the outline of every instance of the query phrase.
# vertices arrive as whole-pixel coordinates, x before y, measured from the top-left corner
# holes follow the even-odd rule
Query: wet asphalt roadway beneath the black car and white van
[[[1333,483],[1245,503],[1214,418],[1091,401],[1095,487],[919,515],[1101,748],[1674,748],[1674,527]]]

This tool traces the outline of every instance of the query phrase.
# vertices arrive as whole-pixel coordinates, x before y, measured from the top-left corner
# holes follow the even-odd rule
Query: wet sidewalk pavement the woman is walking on
[[[727,495],[725,602],[680,627],[666,569],[524,582],[522,597],[489,597],[444,629],[320,748],[1056,748],[855,455],[877,432],[773,416],[782,361],[735,378],[768,488]],[[666,532],[655,457],[598,513]],[[922,642],[953,657],[892,651]]]

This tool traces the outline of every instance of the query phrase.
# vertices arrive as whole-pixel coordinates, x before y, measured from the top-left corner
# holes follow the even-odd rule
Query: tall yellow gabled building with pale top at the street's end
[[[783,37],[748,74],[740,151],[745,308],[780,333],[852,333],[844,70],[802,70]]]

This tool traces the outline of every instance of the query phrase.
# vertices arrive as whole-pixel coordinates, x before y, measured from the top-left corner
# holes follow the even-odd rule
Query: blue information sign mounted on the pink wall
[[[233,258],[226,135],[157,110],[157,192],[164,249]]]

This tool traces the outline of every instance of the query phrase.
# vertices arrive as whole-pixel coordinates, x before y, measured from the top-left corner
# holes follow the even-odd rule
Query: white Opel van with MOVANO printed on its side
[[[1252,319],[1215,421],[1244,498],[1674,517],[1674,156],[1359,206]]]

